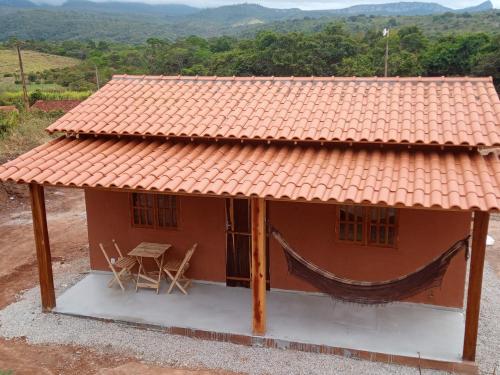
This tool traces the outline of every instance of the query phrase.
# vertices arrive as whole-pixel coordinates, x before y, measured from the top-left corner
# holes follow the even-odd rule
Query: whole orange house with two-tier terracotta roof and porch
[[[127,320],[91,312],[102,293],[123,301],[91,282],[107,270],[98,244],[169,243],[174,254],[197,242],[192,295],[147,294],[129,316],[176,334],[468,371],[500,210],[499,119],[491,78],[122,75],[0,180],[29,184],[46,311]],[[98,275],[58,306],[44,186],[85,190]],[[361,303],[332,307],[324,293]]]

